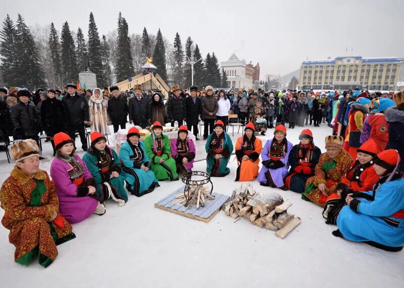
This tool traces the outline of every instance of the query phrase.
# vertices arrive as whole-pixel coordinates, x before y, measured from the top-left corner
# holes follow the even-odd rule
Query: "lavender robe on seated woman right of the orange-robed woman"
[[[269,151],[271,148],[271,143],[272,143],[272,139],[267,140],[267,143],[265,143],[265,146],[262,149],[261,158],[263,161],[270,159]],[[285,185],[284,180],[289,175],[289,153],[293,148],[293,144],[290,143],[289,141],[287,141],[286,147],[287,147],[287,151],[286,151],[285,155],[279,159],[280,161],[282,161],[285,164],[285,166],[280,167],[278,169],[268,169],[267,167],[265,167],[263,165],[260,170],[260,173],[258,174],[258,181],[260,183],[268,184],[267,178],[265,177],[265,173],[267,171],[269,171],[269,173],[271,174],[271,179],[273,180],[274,184],[278,188],[284,187],[284,185]]]

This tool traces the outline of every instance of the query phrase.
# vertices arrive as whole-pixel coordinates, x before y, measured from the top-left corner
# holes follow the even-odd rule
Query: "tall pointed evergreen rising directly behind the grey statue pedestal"
[[[99,40],[98,29],[95,25],[92,12],[90,12],[90,22],[88,24],[88,66],[90,71],[96,75],[97,86],[107,86],[103,67],[101,41]]]

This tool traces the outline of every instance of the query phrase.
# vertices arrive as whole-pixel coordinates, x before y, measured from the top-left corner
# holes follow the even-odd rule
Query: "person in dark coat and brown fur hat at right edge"
[[[396,107],[385,111],[388,123],[388,142],[385,149],[396,149],[401,161],[398,165],[400,171],[404,171],[404,92],[397,92],[394,97]]]

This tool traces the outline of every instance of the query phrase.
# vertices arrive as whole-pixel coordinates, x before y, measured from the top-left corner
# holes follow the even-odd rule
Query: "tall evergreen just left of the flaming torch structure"
[[[126,19],[119,13],[118,17],[118,38],[117,38],[117,65],[115,76],[117,82],[132,77],[134,74],[133,58],[130,51],[129,27]]]

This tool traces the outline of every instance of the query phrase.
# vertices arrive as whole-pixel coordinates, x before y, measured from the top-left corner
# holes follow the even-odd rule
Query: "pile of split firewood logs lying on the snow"
[[[277,231],[275,236],[283,239],[300,224],[299,217],[287,212],[291,205],[277,193],[260,194],[248,185],[235,189],[222,210],[234,219],[244,216],[261,228]]]

